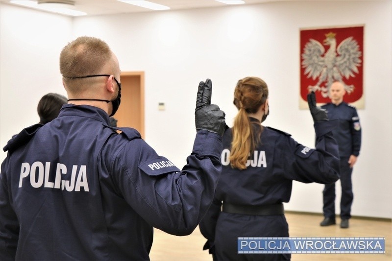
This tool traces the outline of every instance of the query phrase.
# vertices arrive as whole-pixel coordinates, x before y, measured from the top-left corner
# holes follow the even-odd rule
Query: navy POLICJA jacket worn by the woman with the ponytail
[[[254,123],[253,128],[260,128],[257,119],[250,120]],[[334,124],[334,121],[315,123],[315,149],[294,141],[290,134],[264,127],[261,142],[250,153],[247,168],[243,170],[230,166],[232,129],[227,129],[223,135],[221,178],[214,201],[199,226],[208,239],[206,246],[211,248],[214,244],[222,202],[245,206],[289,202],[293,180],[321,184],[336,182],[340,178],[340,160],[338,144],[331,132]]]

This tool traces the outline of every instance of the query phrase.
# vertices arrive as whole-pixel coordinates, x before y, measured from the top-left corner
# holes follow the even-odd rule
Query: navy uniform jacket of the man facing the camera
[[[358,156],[361,149],[361,124],[355,107],[341,102],[339,105],[327,103],[321,108],[327,111],[329,119],[337,119],[337,127],[332,131],[339,144],[341,157]]]

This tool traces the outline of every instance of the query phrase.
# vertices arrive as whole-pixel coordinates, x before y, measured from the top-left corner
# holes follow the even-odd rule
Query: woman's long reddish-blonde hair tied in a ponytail
[[[262,126],[257,135],[253,135],[253,127],[248,118],[249,113],[256,113],[268,98],[267,84],[258,77],[245,77],[238,81],[234,90],[234,105],[238,109],[232,127],[230,165],[245,169],[249,153],[260,142]]]

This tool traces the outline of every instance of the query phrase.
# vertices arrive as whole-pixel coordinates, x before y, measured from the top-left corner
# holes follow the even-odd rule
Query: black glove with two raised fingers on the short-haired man
[[[196,130],[207,130],[222,136],[226,127],[225,114],[218,105],[211,104],[211,92],[210,79],[199,83],[195,110]]]

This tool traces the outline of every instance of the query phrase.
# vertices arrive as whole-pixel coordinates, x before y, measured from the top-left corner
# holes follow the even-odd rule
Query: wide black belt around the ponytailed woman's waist
[[[250,206],[250,205],[234,205],[230,203],[224,203],[222,211],[232,214],[244,214],[244,215],[283,215],[285,210],[283,204],[270,204],[262,206]]]

